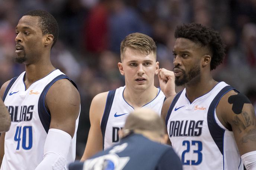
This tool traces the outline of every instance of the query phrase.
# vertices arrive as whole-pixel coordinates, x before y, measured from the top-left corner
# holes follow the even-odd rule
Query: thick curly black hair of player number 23
[[[211,70],[223,62],[225,57],[225,45],[220,34],[198,23],[183,24],[177,26],[175,38],[186,38],[208,48],[212,53]]]

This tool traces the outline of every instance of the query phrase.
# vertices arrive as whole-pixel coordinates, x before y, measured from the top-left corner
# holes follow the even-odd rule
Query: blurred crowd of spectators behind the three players
[[[25,70],[14,62],[15,27],[33,9],[57,19],[60,36],[51,60],[79,87],[77,159],[87,140],[92,98],[124,85],[117,63],[121,40],[129,33],[153,37],[160,68],[172,70],[178,24],[197,22],[218,30],[227,55],[213,76],[246,94],[256,108],[256,0],[0,0],[1,85]]]

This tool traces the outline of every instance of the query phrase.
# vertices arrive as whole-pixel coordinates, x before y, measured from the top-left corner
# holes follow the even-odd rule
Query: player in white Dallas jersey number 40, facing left
[[[67,169],[75,158],[80,95],[50,61],[58,23],[48,12],[29,11],[16,35],[16,61],[26,68],[0,90],[12,120],[1,134],[1,170]]]

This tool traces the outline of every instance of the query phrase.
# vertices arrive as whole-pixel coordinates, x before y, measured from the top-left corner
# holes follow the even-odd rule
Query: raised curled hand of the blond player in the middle
[[[176,95],[175,92],[175,75],[173,71],[160,68],[158,71],[160,88],[166,98]]]

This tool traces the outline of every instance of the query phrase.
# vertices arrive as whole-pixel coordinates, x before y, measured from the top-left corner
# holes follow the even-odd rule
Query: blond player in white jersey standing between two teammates
[[[165,95],[176,94],[174,73],[159,69],[156,44],[142,33],[132,33],[121,42],[118,68],[125,76],[125,86],[96,95],[90,107],[90,131],[81,160],[119,142],[118,131],[134,108],[148,107],[161,113]],[[154,86],[158,73],[160,88]]]

